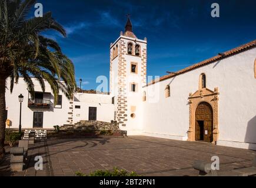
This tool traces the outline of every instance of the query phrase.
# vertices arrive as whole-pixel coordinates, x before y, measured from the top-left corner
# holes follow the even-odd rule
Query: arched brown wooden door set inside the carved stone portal
[[[213,141],[213,113],[211,105],[202,102],[195,111],[195,140]],[[203,136],[202,136],[203,135]]]

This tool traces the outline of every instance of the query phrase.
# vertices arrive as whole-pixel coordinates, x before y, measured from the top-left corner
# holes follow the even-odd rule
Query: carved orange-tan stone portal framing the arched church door
[[[218,130],[218,88],[214,91],[202,88],[197,90],[193,95],[189,93],[188,104],[189,104],[189,129],[188,129],[188,141],[195,141],[195,111],[202,102],[207,102],[212,107],[213,112],[213,142],[216,144],[218,140],[219,130]]]

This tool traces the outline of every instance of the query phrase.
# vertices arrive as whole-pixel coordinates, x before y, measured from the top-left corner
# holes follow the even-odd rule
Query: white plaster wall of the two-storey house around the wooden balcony
[[[32,78],[35,85],[35,91],[42,92],[39,82]],[[14,85],[13,93],[11,94],[9,91],[9,81],[7,82],[7,87],[5,97],[6,97],[6,110],[8,110],[8,119],[11,120],[12,126],[11,128],[19,127],[19,94],[24,96],[24,101],[22,103],[22,128],[32,128],[33,127],[33,117],[34,112],[44,112],[44,121],[43,127],[44,129],[53,129],[55,125],[64,125],[67,122],[67,115],[69,109],[69,100],[65,97],[63,93],[59,93],[62,95],[62,108],[57,109],[54,108],[54,96],[51,94],[51,108],[28,108],[28,98],[30,98],[28,90],[26,89],[26,83],[23,78],[19,79],[19,83]],[[51,92],[51,88],[47,82],[45,82],[45,92]],[[58,118],[57,118],[58,117]]]

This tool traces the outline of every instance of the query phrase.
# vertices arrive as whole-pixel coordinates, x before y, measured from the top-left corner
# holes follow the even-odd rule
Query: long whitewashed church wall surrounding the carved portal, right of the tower
[[[207,88],[214,90],[218,87],[220,91],[218,144],[232,146],[236,143],[239,147],[249,146],[244,143],[255,144],[255,55],[254,48],[144,88],[151,90],[159,87],[160,97],[157,103],[149,103],[150,97],[147,96],[147,102],[143,105],[145,133],[186,140],[189,127],[188,96],[198,90],[199,76],[205,73]],[[169,84],[171,97],[165,98],[165,87]]]

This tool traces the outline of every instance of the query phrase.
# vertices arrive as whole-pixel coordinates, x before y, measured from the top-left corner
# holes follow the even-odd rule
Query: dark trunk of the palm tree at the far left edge
[[[0,159],[5,155],[5,78],[0,76]]]

